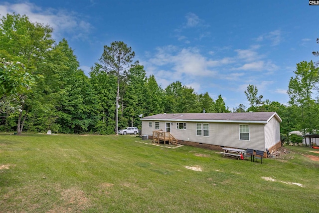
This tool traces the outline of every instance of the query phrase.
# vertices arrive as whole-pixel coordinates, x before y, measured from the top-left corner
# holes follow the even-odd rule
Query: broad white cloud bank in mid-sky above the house
[[[196,47],[167,45],[156,48],[156,52],[148,55],[149,59],[143,64],[148,74],[155,75],[162,88],[178,80],[197,93],[213,88],[223,91],[228,87],[237,94],[245,91],[249,84],[257,85],[260,90],[272,84],[272,81],[265,81],[269,79],[266,75],[272,74],[278,67],[265,59],[266,55],[259,54],[260,48],[260,45],[252,45],[247,49],[235,49],[233,56],[218,58],[224,55],[218,52],[218,48],[207,50],[205,55]],[[229,47],[223,49],[230,50]],[[258,74],[252,74],[252,71],[258,71]]]

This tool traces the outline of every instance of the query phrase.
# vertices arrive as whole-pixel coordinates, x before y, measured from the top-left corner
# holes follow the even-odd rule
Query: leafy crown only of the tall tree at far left
[[[33,23],[26,15],[8,13],[0,21],[0,56],[36,71],[54,43],[52,32],[49,25]]]

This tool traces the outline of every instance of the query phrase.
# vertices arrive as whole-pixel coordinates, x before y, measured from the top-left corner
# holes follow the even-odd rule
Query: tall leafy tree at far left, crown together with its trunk
[[[51,39],[52,28],[40,23],[32,23],[26,15],[6,14],[0,21],[0,57],[10,61],[19,61],[28,67],[28,72],[33,77],[38,77],[38,65],[43,62],[46,52],[51,48],[54,40]],[[22,71],[22,69],[19,69]],[[23,73],[24,80],[29,81],[27,73]],[[20,73],[16,73],[21,75]],[[12,79],[16,78],[13,77]],[[12,80],[11,79],[11,80]],[[17,78],[16,78],[17,79]],[[19,80],[21,82],[21,78]],[[28,84],[28,83],[26,83]],[[23,129],[25,118],[32,106],[30,91],[25,91],[26,84],[20,84],[21,87],[15,87],[18,93],[17,104],[20,112],[17,116],[17,133],[20,134]],[[12,90],[5,86],[6,89]],[[21,91],[20,89],[24,91]],[[3,89],[3,88],[2,88]],[[20,90],[20,91],[19,91]],[[23,117],[22,117],[23,116]],[[23,120],[22,120],[23,119]]]

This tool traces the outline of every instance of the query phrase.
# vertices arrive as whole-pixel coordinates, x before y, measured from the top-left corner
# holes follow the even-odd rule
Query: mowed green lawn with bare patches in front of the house
[[[287,147],[282,159],[260,164],[140,142],[129,135],[0,134],[0,212],[319,211],[319,161],[308,156],[319,158],[314,149]]]

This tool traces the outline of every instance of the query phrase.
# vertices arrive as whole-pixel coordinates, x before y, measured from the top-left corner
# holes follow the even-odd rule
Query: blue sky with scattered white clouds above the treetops
[[[86,74],[104,45],[124,41],[162,88],[180,81],[230,109],[244,91],[286,104],[296,64],[319,60],[319,6],[308,0],[0,0],[68,40]]]

